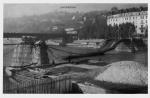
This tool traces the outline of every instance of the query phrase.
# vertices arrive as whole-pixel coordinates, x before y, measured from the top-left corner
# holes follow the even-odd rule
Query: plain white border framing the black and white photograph
[[[50,1],[50,0],[0,0],[0,49],[2,51],[0,51],[0,93],[1,93],[1,96],[0,97],[7,97],[7,98],[25,98],[25,97],[47,97],[47,98],[56,98],[56,97],[67,97],[67,98],[70,98],[70,97],[111,97],[111,98],[127,98],[127,97],[148,97],[149,94],[82,94],[82,95],[72,95],[72,94],[68,94],[68,95],[65,95],[65,94],[3,94],[3,91],[2,91],[2,81],[3,81],[3,77],[2,77],[2,68],[3,68],[3,4],[4,3],[148,3],[148,0],[53,0],[53,1]],[[149,6],[149,4],[148,4]],[[149,13],[149,11],[148,11]],[[149,23],[149,19],[150,19],[150,16],[148,14],[148,23]],[[149,26],[148,26],[149,27]],[[149,30],[148,30],[149,31]],[[148,34],[149,36],[149,34]],[[148,43],[149,43],[149,37],[148,37]],[[149,51],[149,45],[148,45],[148,51]],[[148,57],[149,57],[149,52],[148,52]],[[149,60],[149,59],[148,59]],[[149,69],[149,68],[148,68]],[[149,91],[150,92],[150,91]],[[37,96],[38,95],[38,96]]]

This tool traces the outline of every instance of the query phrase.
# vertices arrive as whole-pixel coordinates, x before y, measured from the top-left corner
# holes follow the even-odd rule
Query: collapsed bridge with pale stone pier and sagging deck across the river
[[[45,41],[38,41],[36,43],[26,43],[25,41],[16,46],[17,48],[12,51],[14,52],[13,56],[11,56],[11,62],[14,66],[16,64],[20,66],[30,66],[32,64],[38,64],[39,66],[59,65],[70,63],[74,59],[104,55],[106,52],[115,50],[118,47],[127,47],[131,52],[147,48],[142,39],[106,40],[102,47],[91,50],[46,45]]]

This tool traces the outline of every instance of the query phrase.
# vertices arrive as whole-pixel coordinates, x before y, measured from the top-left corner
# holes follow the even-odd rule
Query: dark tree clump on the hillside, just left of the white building
[[[83,28],[79,31],[79,38],[105,38],[107,28],[106,17],[97,12],[86,13],[85,17],[87,19],[84,22]]]

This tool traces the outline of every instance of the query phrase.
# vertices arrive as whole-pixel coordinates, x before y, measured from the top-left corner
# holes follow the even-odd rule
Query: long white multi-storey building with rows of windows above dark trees
[[[136,34],[145,34],[148,28],[148,13],[147,11],[140,11],[107,16],[107,25],[114,26],[127,22],[135,25]]]

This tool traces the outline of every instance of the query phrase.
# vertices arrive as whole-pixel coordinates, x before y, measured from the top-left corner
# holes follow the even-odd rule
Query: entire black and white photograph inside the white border
[[[4,3],[3,94],[148,94],[148,3]]]

